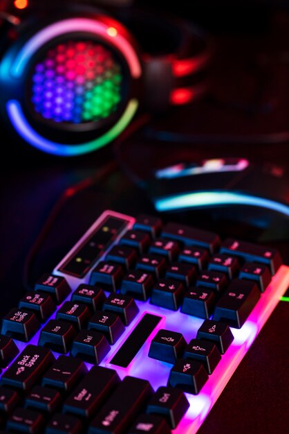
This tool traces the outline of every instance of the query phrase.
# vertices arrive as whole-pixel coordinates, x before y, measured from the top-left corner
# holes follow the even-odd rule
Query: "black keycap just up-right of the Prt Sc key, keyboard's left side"
[[[35,313],[40,322],[46,321],[55,311],[55,303],[50,295],[35,293],[35,291],[26,293],[21,298],[18,307]]]

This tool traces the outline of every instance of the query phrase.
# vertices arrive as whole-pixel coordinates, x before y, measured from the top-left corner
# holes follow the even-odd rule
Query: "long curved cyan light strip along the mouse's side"
[[[157,198],[155,207],[158,211],[173,211],[175,209],[209,207],[214,205],[250,205],[277,211],[289,217],[288,205],[274,200],[250,196],[243,193],[228,191],[203,191],[184,193],[167,198]]]

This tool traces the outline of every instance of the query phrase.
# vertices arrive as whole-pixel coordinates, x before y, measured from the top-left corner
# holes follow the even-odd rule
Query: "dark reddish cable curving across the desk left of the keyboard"
[[[50,214],[48,215],[48,218],[46,219],[44,226],[42,227],[41,231],[37,235],[35,242],[33,243],[32,247],[30,248],[26,256],[26,260],[24,263],[23,281],[24,281],[24,286],[27,290],[33,289],[33,285],[30,284],[30,271],[34,263],[35,257],[37,256],[37,253],[39,252],[41,245],[44,243],[46,237],[50,232],[50,229],[53,227],[53,224],[55,223],[55,220],[57,219],[57,216],[59,215],[59,212],[62,210],[64,205],[68,202],[68,200],[76,196],[81,191],[91,188],[91,186],[97,184],[97,182],[100,182],[102,178],[112,173],[116,167],[117,167],[116,162],[110,162],[109,164],[106,164],[106,166],[100,169],[100,171],[97,171],[97,173],[95,173],[94,176],[88,177],[85,180],[77,182],[73,186],[69,186],[59,196],[59,198],[55,202],[53,209],[50,211]]]

